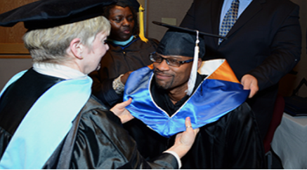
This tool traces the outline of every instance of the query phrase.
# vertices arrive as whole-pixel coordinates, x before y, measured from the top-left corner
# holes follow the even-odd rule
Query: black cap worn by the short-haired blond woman
[[[103,7],[117,0],[41,0],[0,15],[0,26],[24,22],[26,29],[46,29],[103,15]]]

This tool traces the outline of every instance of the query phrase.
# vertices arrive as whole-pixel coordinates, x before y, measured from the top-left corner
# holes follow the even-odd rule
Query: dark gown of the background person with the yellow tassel
[[[122,101],[122,95],[113,90],[112,82],[123,73],[135,71],[152,64],[150,53],[155,52],[158,41],[148,38],[148,43],[141,41],[138,36],[126,46],[109,42],[110,49],[100,62],[100,70],[93,71],[93,94],[107,106],[114,106]]]

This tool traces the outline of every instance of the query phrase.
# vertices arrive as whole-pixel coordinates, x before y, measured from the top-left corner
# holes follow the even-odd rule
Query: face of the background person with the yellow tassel
[[[115,6],[107,18],[111,23],[110,38],[115,41],[127,41],[133,34],[135,21],[129,7]]]

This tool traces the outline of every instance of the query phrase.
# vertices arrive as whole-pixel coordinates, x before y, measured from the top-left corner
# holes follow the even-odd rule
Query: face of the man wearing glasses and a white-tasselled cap
[[[183,56],[164,56],[166,59],[176,59],[177,61],[186,61],[191,59],[191,57]],[[156,84],[159,88],[164,90],[174,90],[176,88],[186,88],[188,89],[188,80],[190,78],[190,72],[192,69],[192,63],[184,63],[181,66],[169,66],[164,59],[161,63],[154,62],[154,73]]]

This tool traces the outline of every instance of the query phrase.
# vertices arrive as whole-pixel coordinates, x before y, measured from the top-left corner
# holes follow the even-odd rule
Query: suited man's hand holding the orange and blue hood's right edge
[[[251,90],[249,93],[249,99],[254,97],[254,95],[259,91],[258,80],[250,74],[246,74],[242,77],[241,84],[243,85],[244,90]]]

